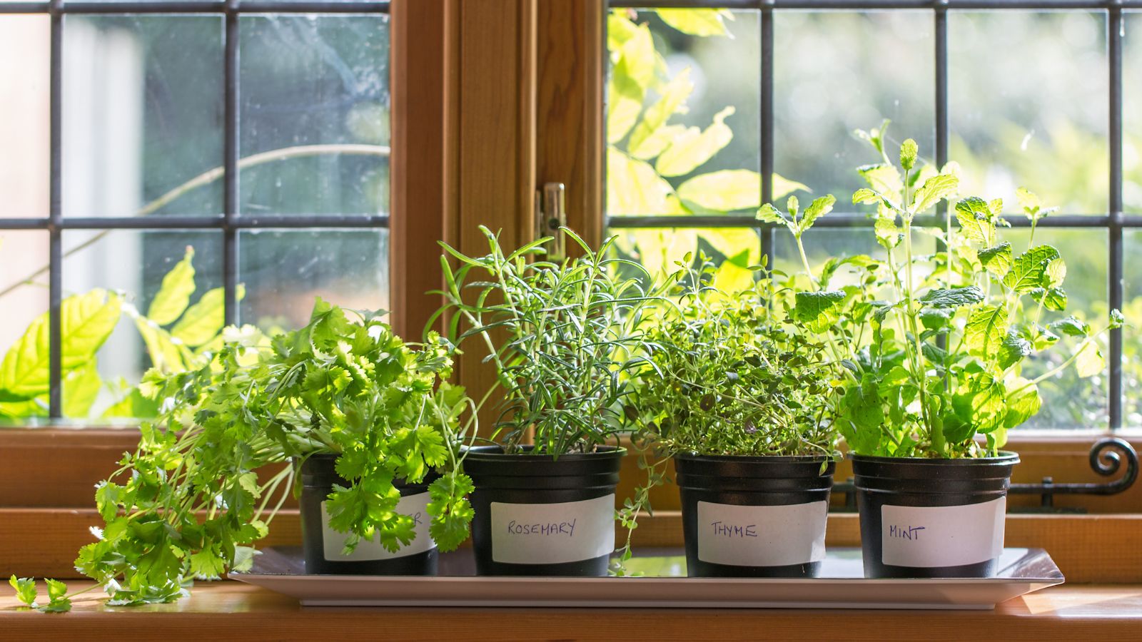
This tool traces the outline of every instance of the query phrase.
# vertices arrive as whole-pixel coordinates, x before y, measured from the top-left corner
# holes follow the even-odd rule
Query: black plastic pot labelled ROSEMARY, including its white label
[[[472,478],[476,573],[605,576],[614,551],[614,487],[626,449],[507,455],[474,447],[464,459]]]

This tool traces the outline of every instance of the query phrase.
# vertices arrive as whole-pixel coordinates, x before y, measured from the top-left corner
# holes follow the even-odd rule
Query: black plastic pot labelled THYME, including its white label
[[[815,577],[836,464],[825,457],[674,458],[690,577]]]

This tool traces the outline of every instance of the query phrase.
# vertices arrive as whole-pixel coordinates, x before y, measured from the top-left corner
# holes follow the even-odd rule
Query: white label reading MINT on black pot
[[[1007,498],[965,506],[882,506],[883,561],[894,567],[976,564],[1003,552]]]

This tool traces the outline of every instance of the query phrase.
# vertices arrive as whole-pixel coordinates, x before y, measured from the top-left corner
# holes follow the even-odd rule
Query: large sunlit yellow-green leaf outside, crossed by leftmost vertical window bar
[[[64,374],[93,359],[119,323],[121,300],[103,289],[67,297],[61,304]],[[8,348],[0,364],[0,390],[35,398],[48,392],[48,314],[35,319]]]

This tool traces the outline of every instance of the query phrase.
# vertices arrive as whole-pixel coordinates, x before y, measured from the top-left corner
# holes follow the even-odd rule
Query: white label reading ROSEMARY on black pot
[[[557,564],[614,551],[614,495],[561,504],[492,501],[492,560]]]

